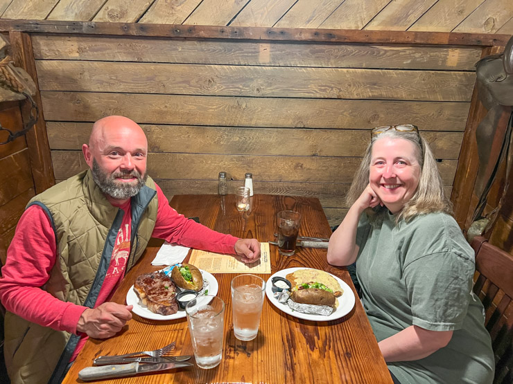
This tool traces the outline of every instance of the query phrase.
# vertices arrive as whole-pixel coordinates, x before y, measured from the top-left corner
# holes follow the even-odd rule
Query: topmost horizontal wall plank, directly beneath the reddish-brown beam
[[[475,71],[478,48],[34,35],[36,59]],[[116,49],[112,49],[112,45]]]

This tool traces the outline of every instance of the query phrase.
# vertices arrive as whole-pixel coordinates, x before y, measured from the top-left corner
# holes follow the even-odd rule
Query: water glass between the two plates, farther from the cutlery
[[[253,340],[259,333],[266,282],[255,275],[238,275],[232,280],[234,333],[238,340]]]

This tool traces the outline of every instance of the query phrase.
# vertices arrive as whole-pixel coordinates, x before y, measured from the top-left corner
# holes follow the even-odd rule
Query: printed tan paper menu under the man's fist
[[[209,273],[271,273],[269,243],[260,243],[260,259],[244,264],[232,255],[193,249],[189,263]]]

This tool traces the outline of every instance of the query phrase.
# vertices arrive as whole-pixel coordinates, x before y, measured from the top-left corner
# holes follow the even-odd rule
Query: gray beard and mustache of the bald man
[[[146,179],[148,179],[148,174],[144,174],[141,176],[139,172],[136,170],[132,170],[130,172],[116,172],[111,174],[110,176],[103,172],[100,165],[96,163],[96,160],[93,159],[93,180],[100,188],[101,192],[104,194],[108,194],[114,199],[129,199],[132,196],[135,196],[139,193],[141,188],[146,184]],[[130,175],[137,179],[137,184],[128,184],[128,183],[117,183],[116,178]]]

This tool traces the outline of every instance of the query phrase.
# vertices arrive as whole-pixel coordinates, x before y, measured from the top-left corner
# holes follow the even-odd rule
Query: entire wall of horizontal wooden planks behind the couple
[[[481,48],[216,39],[32,37],[55,179],[85,169],[92,122],[120,114],[148,136],[164,192],[318,196],[340,223],[377,125],[412,123],[433,146],[448,192]]]

